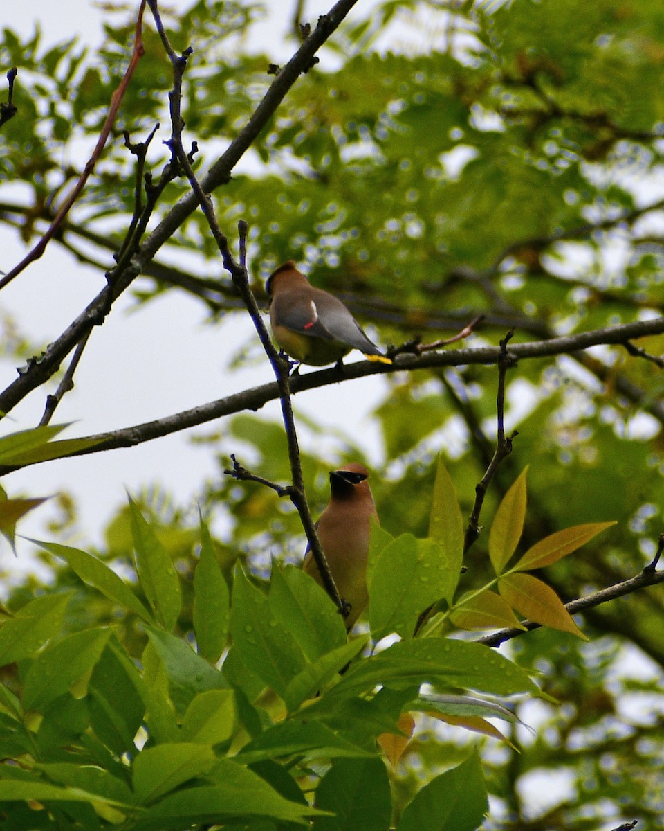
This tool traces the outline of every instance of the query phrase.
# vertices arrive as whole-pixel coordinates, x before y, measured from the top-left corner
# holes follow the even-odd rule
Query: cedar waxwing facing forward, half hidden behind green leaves
[[[316,523],[320,546],[342,600],[350,604],[345,619],[348,631],[369,602],[367,558],[371,518],[378,522],[374,498],[369,489],[369,471],[351,462],[330,473],[330,504]],[[315,559],[307,550],[302,566],[322,585]]]

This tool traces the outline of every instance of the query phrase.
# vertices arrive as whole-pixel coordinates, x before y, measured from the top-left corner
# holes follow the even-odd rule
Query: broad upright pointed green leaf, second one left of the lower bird
[[[307,661],[295,637],[275,617],[268,598],[250,583],[239,564],[233,583],[231,630],[247,669],[283,698]]]

